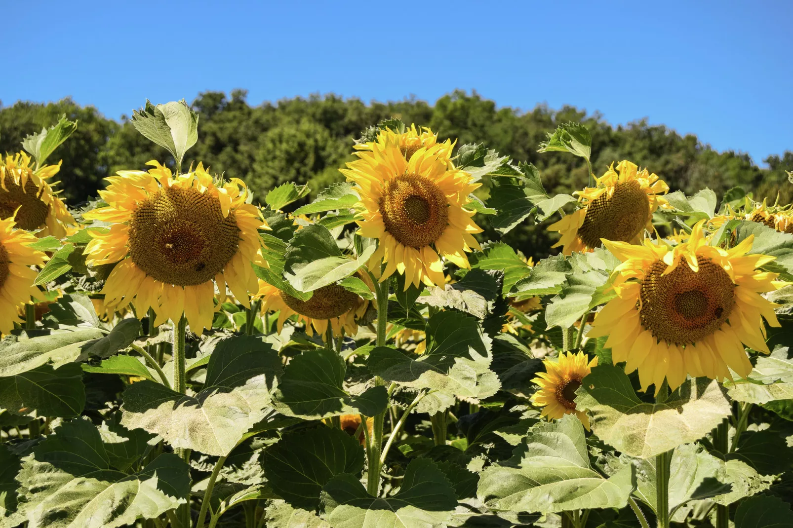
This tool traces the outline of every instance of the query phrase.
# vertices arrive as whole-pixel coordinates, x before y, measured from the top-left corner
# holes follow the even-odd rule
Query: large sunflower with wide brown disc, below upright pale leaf
[[[256,291],[251,261],[266,266],[258,229],[266,229],[255,206],[245,203],[247,187],[238,178],[213,181],[201,163],[194,172],[172,175],[155,161],[148,172],[121,170],[106,178],[100,195],[109,205],[83,214],[111,224],[89,231],[90,265],[118,262],[102,293],[105,305],[125,308],[134,299],[138,314],[153,308],[155,324],[184,314],[200,334],[212,327],[215,285],[226,285],[244,306]]]

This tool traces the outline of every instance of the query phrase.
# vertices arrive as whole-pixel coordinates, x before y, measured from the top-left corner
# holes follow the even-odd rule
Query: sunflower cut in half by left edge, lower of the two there
[[[47,300],[44,292],[33,285],[36,270],[30,266],[44,266],[47,255],[29,244],[36,237],[24,229],[15,229],[12,217],[0,220],[0,332],[8,334],[13,323],[21,323],[18,309],[36,300]]]

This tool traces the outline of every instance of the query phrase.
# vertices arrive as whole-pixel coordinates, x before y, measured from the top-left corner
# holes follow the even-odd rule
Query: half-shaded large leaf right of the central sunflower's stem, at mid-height
[[[411,388],[427,388],[450,396],[483,399],[500,388],[492,360],[491,340],[476,319],[460,312],[439,312],[427,323],[427,352],[419,357],[389,346],[371,351],[371,373]]]

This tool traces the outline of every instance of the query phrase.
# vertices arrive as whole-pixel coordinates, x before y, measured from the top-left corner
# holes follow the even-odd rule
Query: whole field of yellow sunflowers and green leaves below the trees
[[[581,124],[549,195],[397,119],[255,197],[186,163],[184,101],[132,124],[173,159],[87,205],[78,123],[0,159],[0,528],[793,526],[793,205],[592,166]],[[525,223],[555,256],[482,235]]]

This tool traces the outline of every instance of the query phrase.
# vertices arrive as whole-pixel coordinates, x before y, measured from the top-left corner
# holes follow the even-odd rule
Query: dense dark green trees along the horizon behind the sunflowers
[[[671,189],[687,194],[709,187],[721,196],[741,186],[754,191],[756,198],[769,196],[774,201],[780,190],[780,203],[793,199],[793,186],[787,186],[785,173],[793,170],[791,151],[765,159],[769,168],[763,169],[749,155],[718,153],[696,136],[680,136],[663,125],[636,121],[615,128],[599,114],[588,115],[569,106],[554,111],[538,105],[522,113],[498,109],[495,102],[462,91],[440,98],[434,106],[412,100],[366,105],[335,95],[251,106],[246,92],[235,90],[230,98],[220,92],[201,94],[193,108],[200,117],[198,142],[186,162],[202,161],[227,178],[242,178],[259,198],[283,182],[308,183],[312,197],[316,196],[329,183],[343,179],[336,169],[351,160],[354,138],[364,128],[399,117],[431,127],[442,139],[458,138],[458,145],[485,143],[516,161],[534,163],[552,195],[585,186],[587,168],[583,159],[561,152],[538,154],[538,143],[557,124],[581,121],[592,134],[596,174],[603,174],[613,161],[630,159],[661,176]],[[117,170],[144,169],[150,159],[170,157],[141,136],[132,122],[105,119],[93,107],[80,107],[69,99],[48,105],[18,102],[0,109],[0,151],[19,150],[25,135],[49,126],[62,113],[79,121],[75,135],[53,155],[53,159],[63,159],[59,179],[63,196],[72,205],[95,194],[102,178]],[[531,225],[515,229],[505,241],[535,257],[545,256],[550,246],[544,229]]]

